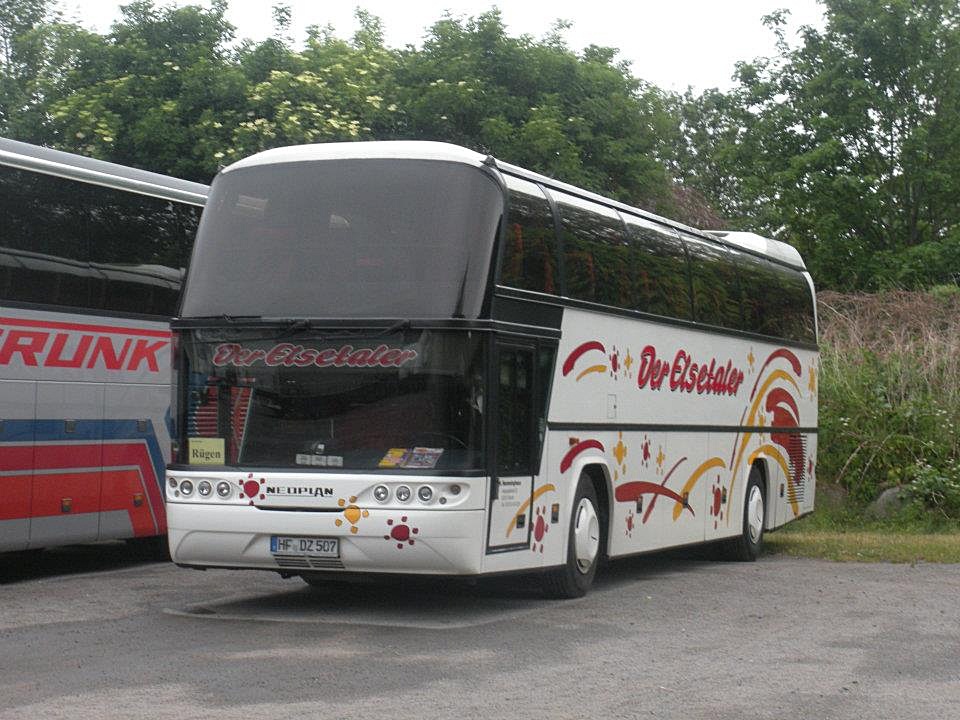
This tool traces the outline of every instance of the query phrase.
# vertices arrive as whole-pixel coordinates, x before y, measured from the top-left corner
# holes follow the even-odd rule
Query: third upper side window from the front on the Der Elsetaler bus
[[[683,243],[672,230],[623,215],[630,234],[633,310],[690,320],[690,276]]]

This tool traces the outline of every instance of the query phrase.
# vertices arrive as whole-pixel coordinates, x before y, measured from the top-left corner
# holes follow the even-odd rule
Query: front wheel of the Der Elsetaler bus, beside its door
[[[570,510],[567,560],[543,576],[543,590],[552,598],[577,598],[587,594],[603,555],[604,527],[597,491],[586,473],[581,473]],[[578,558],[578,538],[579,554]]]

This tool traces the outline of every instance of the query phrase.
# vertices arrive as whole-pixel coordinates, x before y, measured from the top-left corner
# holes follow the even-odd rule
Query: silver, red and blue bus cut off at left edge
[[[0,139],[0,551],[166,532],[169,320],[207,189]]]

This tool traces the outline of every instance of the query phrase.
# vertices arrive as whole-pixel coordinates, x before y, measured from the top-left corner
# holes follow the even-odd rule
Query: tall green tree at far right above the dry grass
[[[731,93],[685,98],[678,165],[734,224],[796,245],[821,286],[955,280],[960,6],[824,5],[796,48],[768,17],[779,54],[742,64]]]

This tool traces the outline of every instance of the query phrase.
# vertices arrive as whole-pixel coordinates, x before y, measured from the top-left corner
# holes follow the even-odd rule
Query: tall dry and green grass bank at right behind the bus
[[[917,507],[960,517],[960,290],[818,302],[819,481],[853,506],[908,485]]]

